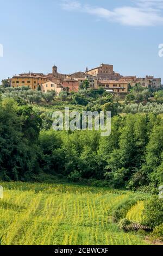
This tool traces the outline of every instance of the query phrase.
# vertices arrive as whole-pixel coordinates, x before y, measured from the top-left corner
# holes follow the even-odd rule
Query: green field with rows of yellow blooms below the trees
[[[77,185],[2,182],[0,237],[7,245],[143,245],[110,221],[133,192]],[[128,213],[139,218],[142,203]]]

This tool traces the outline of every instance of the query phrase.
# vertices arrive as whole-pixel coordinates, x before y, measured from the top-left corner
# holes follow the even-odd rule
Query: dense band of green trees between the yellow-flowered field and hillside
[[[0,101],[0,178],[32,180],[40,173],[70,181],[102,180],[114,188],[163,182],[163,119],[154,113],[115,115],[111,135],[41,129],[32,106]]]

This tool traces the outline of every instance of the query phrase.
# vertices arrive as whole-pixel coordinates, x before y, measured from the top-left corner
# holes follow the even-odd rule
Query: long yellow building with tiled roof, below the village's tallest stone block
[[[128,83],[125,81],[99,80],[98,88],[100,87],[106,90],[112,90],[114,93],[128,93]]]

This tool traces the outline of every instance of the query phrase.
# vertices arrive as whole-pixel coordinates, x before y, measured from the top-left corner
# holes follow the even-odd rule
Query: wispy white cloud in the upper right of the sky
[[[66,10],[80,11],[118,22],[128,26],[163,25],[163,0],[133,0],[133,6],[121,6],[113,10],[82,5],[79,1],[62,0],[61,6]]]

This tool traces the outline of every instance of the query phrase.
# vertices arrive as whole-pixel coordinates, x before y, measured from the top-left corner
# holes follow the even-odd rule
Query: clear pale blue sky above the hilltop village
[[[70,74],[101,62],[163,81],[163,0],[0,0],[0,80],[21,72]],[[162,82],[163,83],[163,82]]]

